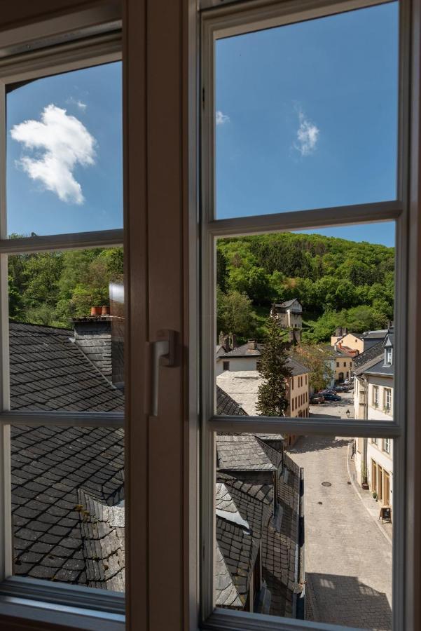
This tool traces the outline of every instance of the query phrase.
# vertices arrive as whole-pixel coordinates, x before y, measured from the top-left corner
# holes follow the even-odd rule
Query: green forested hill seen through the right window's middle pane
[[[303,304],[312,341],[329,339],[338,325],[361,332],[393,320],[393,247],[296,233],[220,239],[217,272],[218,327],[240,327],[233,332],[241,337],[259,334],[270,304],[291,298]],[[249,325],[229,321],[233,302],[249,309]]]

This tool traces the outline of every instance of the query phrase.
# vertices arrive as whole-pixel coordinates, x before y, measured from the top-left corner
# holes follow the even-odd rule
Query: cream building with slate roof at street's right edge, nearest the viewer
[[[394,395],[393,332],[355,361],[354,416],[392,420]],[[393,504],[393,441],[357,438],[355,467],[359,484],[378,495],[382,506]]]

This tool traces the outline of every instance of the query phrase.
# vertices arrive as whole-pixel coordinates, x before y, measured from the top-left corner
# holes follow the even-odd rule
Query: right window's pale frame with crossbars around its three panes
[[[416,5],[416,0],[413,0]],[[370,203],[363,205],[341,206],[338,208],[319,208],[315,210],[301,210],[283,212],[274,215],[254,217],[237,217],[233,219],[216,219],[213,214],[214,205],[214,41],[216,39],[256,31],[268,27],[286,25],[302,20],[324,17],[342,11],[364,8],[382,4],[378,0],[285,0],[278,3],[257,0],[248,4],[228,0],[224,6],[216,0],[200,0],[202,11],[201,23],[201,213],[202,222],[200,232],[202,236],[202,353],[201,353],[201,417],[202,417],[202,449],[201,471],[201,530],[200,530],[200,611],[201,625],[205,629],[230,630],[324,630],[329,625],[323,623],[308,623],[303,620],[289,618],[275,618],[261,614],[218,609],[214,607],[213,568],[214,568],[214,462],[215,462],[215,433],[219,430],[233,432],[265,433],[285,432],[291,434],[317,435],[320,433],[338,436],[377,437],[394,440],[394,533],[393,533],[393,628],[403,631],[411,628],[413,610],[410,609],[410,597],[405,596],[406,590],[414,590],[406,577],[413,576],[410,546],[415,545],[410,533],[406,517],[410,512],[406,510],[406,485],[409,480],[412,463],[406,461],[406,432],[414,433],[414,419],[406,417],[407,404],[413,409],[414,401],[410,395],[410,388],[406,384],[408,344],[406,339],[406,323],[413,316],[407,311],[408,284],[411,265],[416,267],[415,260],[408,261],[407,252],[417,252],[421,243],[413,243],[412,250],[408,250],[408,215],[416,215],[419,205],[418,182],[418,154],[417,147],[413,154],[409,153],[410,104],[411,111],[419,114],[417,107],[418,77],[415,72],[410,76],[410,59],[417,58],[420,42],[417,38],[415,20],[410,26],[411,0],[402,0],[399,15],[399,142],[398,142],[398,183],[396,200]],[[412,39],[411,36],[415,37]],[[414,43],[415,42],[415,43]],[[411,46],[413,46],[411,50]],[[412,57],[411,57],[412,55]],[[410,101],[410,79],[413,90]],[[417,131],[418,121],[413,114],[414,131]],[[413,190],[408,186],[409,175],[413,177]],[[372,421],[364,419],[343,419],[335,421],[325,419],[296,419],[293,417],[276,419],[265,416],[217,416],[215,414],[215,368],[214,368],[214,340],[216,339],[215,316],[215,276],[216,257],[215,245],[218,238],[243,236],[270,231],[293,231],[301,229],[316,229],[326,226],[345,226],[347,224],[368,224],[379,221],[393,220],[396,225],[396,274],[395,274],[395,336],[396,336],[396,376],[394,379],[394,414],[390,421]],[[415,278],[415,274],[414,274]],[[416,294],[416,290],[414,287]],[[408,360],[409,361],[409,360]],[[415,365],[415,358],[410,357]],[[412,462],[412,461],[411,461]],[[411,506],[414,499],[411,496]],[[412,591],[413,593],[413,591]]]

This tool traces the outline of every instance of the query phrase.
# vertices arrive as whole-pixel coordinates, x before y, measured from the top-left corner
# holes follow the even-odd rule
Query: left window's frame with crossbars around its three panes
[[[6,226],[6,87],[28,79],[61,74],[71,70],[93,67],[122,59],[122,43],[119,20],[98,25],[113,13],[102,8],[99,11],[81,12],[48,21],[48,27],[35,25],[17,29],[6,37],[8,49],[14,53],[27,46],[18,44],[25,33],[36,34],[30,48],[34,52],[0,58],[0,615],[18,616],[38,620],[39,623],[55,623],[69,627],[104,631],[123,631],[125,628],[125,595],[104,592],[95,588],[34,578],[13,576],[13,536],[11,514],[11,425],[29,426],[101,426],[123,427],[123,412],[21,412],[10,409],[9,352],[8,352],[8,255],[24,252],[48,252],[53,250],[85,249],[90,247],[123,246],[123,228],[51,234],[27,238],[8,239]],[[116,16],[113,16],[116,17]],[[84,20],[95,22],[92,30],[85,32]],[[70,20],[70,22],[69,22]],[[67,39],[63,28],[79,25],[76,41]],[[109,28],[113,32],[109,31]],[[54,29],[60,31],[57,38]],[[83,34],[86,37],[79,41]],[[98,35],[98,33],[103,34]],[[48,48],[43,37],[47,36]],[[14,38],[17,39],[14,39]],[[67,41],[68,43],[52,43]],[[15,42],[15,43],[14,43]],[[38,43],[37,43],[38,42]],[[41,46],[40,49],[39,46]]]

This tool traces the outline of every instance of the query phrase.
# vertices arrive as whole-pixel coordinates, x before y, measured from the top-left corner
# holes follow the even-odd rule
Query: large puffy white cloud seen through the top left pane
[[[95,164],[95,138],[81,121],[50,104],[43,109],[41,121],[15,125],[11,136],[26,149],[38,150],[18,161],[31,179],[42,182],[64,202],[83,203],[81,184],[73,171],[77,164]]]

